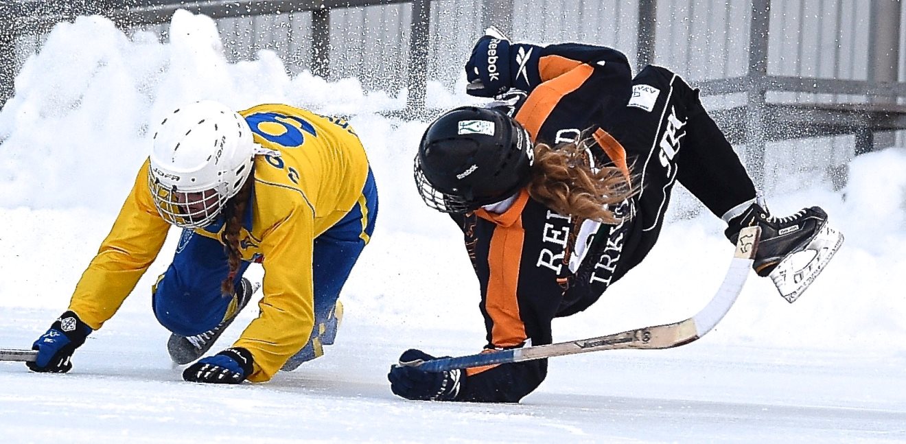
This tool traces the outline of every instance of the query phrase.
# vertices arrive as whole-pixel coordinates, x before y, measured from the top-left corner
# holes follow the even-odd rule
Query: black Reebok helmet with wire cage
[[[467,213],[516,193],[531,179],[528,131],[499,111],[447,111],[421,137],[415,184],[430,208]]]

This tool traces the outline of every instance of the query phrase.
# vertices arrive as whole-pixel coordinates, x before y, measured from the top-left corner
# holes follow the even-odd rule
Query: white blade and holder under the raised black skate
[[[793,304],[812,285],[824,266],[843,245],[843,234],[827,222],[802,251],[784,257],[769,275],[777,291]]]

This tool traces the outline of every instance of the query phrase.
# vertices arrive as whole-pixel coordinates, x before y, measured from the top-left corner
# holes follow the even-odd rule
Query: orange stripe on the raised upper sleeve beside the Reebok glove
[[[538,137],[541,125],[545,124],[547,117],[551,115],[564,95],[578,90],[592,76],[593,72],[594,68],[591,65],[578,65],[555,79],[541,83],[535,88],[535,91],[528,95],[525,104],[522,105],[519,112],[516,112],[516,121],[522,123],[525,130],[528,130],[532,140]]]

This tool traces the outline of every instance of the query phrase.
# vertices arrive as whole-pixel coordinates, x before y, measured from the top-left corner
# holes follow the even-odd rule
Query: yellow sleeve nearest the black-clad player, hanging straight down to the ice
[[[302,205],[263,236],[265,296],[258,303],[261,313],[233,344],[255,357],[249,381],[270,380],[312,333],[313,225],[311,208]]]

